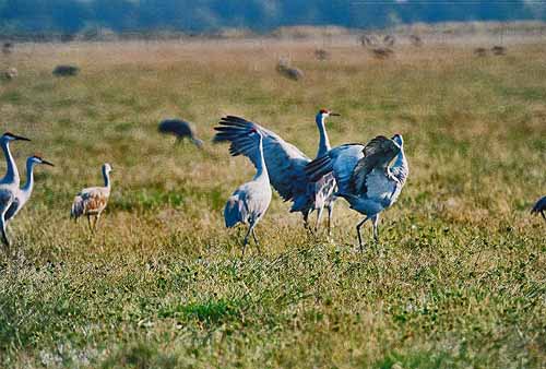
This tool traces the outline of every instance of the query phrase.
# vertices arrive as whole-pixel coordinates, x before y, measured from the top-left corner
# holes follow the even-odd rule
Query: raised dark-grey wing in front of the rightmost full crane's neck
[[[376,180],[370,181],[373,169],[377,172],[387,172],[389,163],[392,162],[394,156],[400,153],[400,146],[392,140],[378,135],[366,144],[363,150],[363,158],[358,160],[351,176],[351,184],[355,193],[366,193],[368,191],[368,182],[377,183]],[[375,175],[373,177],[377,177]]]

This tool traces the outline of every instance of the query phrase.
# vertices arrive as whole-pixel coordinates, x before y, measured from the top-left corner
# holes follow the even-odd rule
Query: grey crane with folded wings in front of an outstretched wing
[[[270,178],[268,175],[268,167],[263,159],[263,140],[261,133],[251,129],[246,138],[241,138],[244,145],[251,145],[252,152],[248,155],[251,156],[252,162],[256,164],[257,172],[250,182],[247,182],[227,199],[224,209],[224,219],[226,227],[232,228],[238,223],[248,224],[248,231],[242,241],[242,255],[245,255],[245,248],[248,243],[248,237],[252,234],[256,246],[259,247],[258,238],[254,234],[254,227],[262,218],[271,203],[271,187]]]

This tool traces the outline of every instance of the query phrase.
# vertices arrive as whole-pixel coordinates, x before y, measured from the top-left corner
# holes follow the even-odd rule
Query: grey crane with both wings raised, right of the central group
[[[394,158],[394,164],[389,166]],[[306,172],[310,180],[333,172],[339,187],[336,195],[366,216],[356,226],[360,251],[364,251],[360,227],[371,219],[373,238],[379,240],[379,214],[396,201],[410,168],[404,154],[404,140],[395,134],[392,139],[379,135],[366,145],[334,147],[328,155],[311,162]]]

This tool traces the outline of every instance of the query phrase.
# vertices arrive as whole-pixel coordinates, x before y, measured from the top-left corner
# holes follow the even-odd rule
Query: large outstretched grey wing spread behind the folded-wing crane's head
[[[230,142],[229,153],[233,156],[245,155],[257,166],[258,142],[248,136],[254,129],[262,134],[263,156],[270,182],[285,200],[294,200],[293,210],[299,210],[299,203],[305,202],[307,177],[304,168],[310,162],[296,146],[287,143],[274,132],[240,117],[222,118],[213,142]]]

